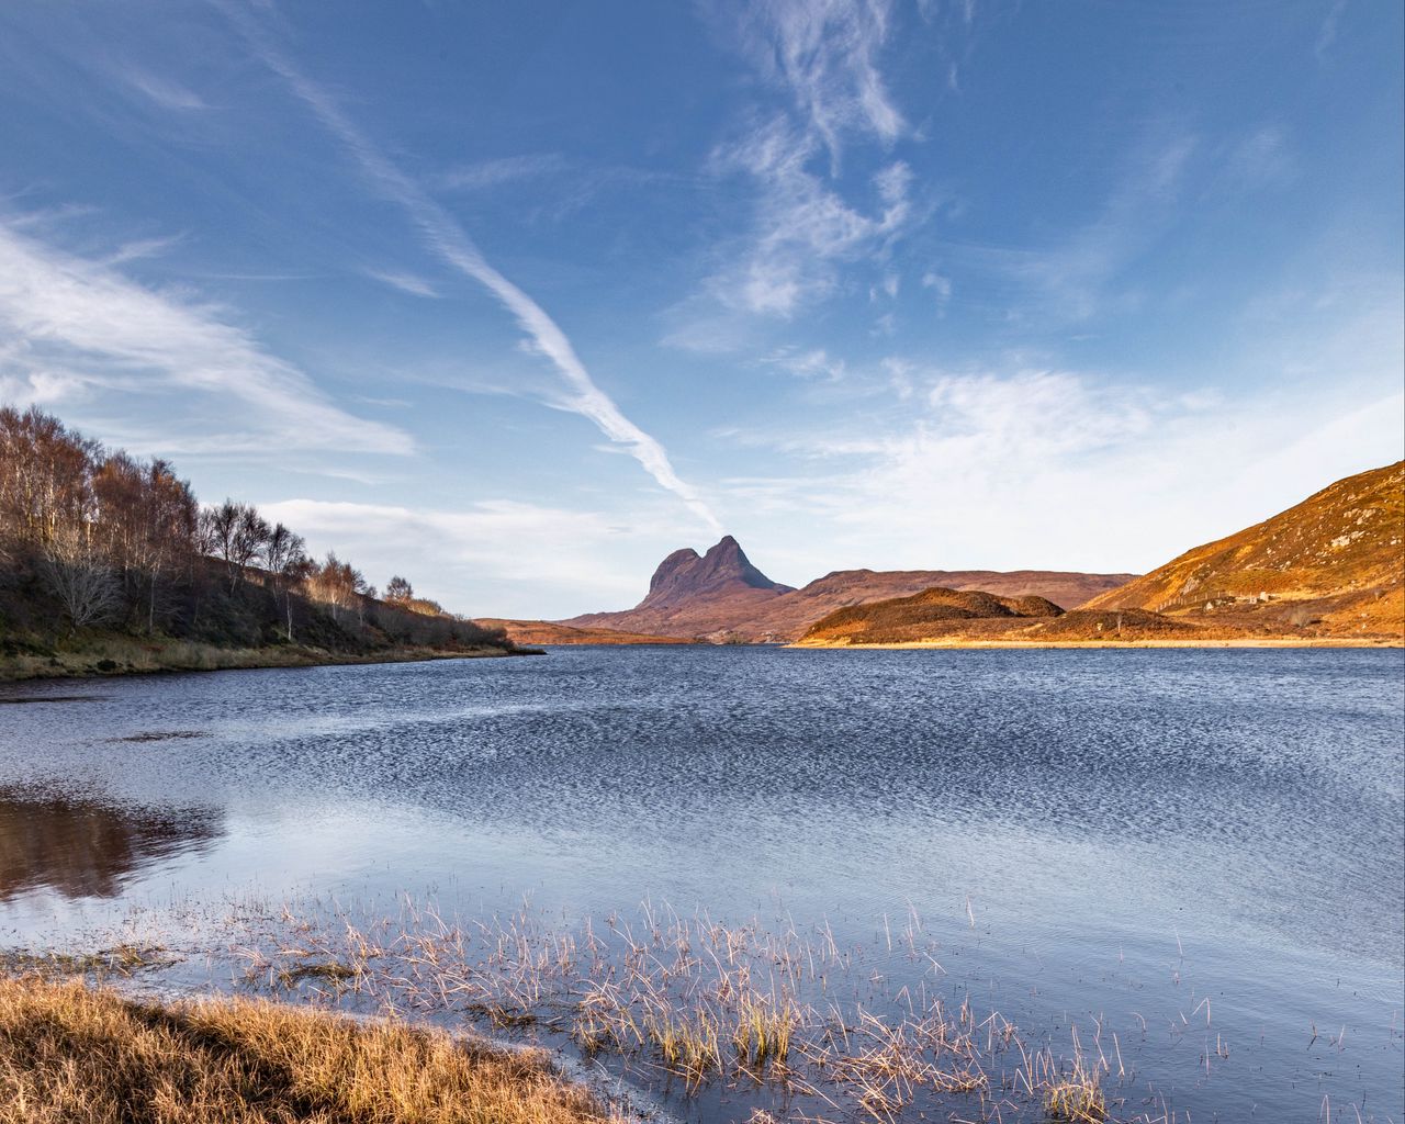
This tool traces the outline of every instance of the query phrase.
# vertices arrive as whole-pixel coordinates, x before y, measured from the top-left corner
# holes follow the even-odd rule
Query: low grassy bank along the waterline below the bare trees
[[[308,645],[225,648],[201,641],[96,636],[62,649],[0,655],[0,683],[31,679],[90,679],[160,672],[219,672],[237,667],[319,667],[337,663],[409,663],[430,659],[540,655],[540,649],[502,645],[430,648],[403,645],[364,652]]]

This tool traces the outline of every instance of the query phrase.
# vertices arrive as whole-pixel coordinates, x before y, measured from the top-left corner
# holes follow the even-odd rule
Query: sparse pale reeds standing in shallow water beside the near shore
[[[49,954],[51,976],[91,978],[100,964],[170,955],[162,950],[170,946],[190,954],[180,969],[187,979],[208,957],[215,979],[223,975],[253,999],[479,1027],[579,1051],[592,1072],[667,1099],[712,1106],[722,1096],[740,1104],[743,1117],[754,1107],[791,1124],[923,1116],[1183,1120],[1165,1103],[1152,1111],[1127,1107],[1132,1096],[1151,1104],[1158,1093],[1149,1085],[1134,1092],[1142,1082],[1127,1064],[1135,1058],[1124,1064],[1125,1044],[1110,1031],[1104,1050],[1102,1020],[1080,1038],[1076,1024],[1031,1033],[978,1012],[960,984],[946,982],[946,954],[916,915],[901,927],[885,920],[874,944],[846,947],[828,924],[805,932],[721,924],[648,905],[628,920],[611,915],[573,924],[530,906],[447,919],[409,898],[391,915],[260,895],[177,909],[124,924],[128,947],[145,950],[140,955],[121,946],[62,962]],[[896,992],[887,982],[895,960],[915,968],[895,972],[906,981]],[[27,967],[11,961],[14,969]],[[1201,1009],[1208,1033],[1208,1005]],[[1069,1038],[1071,1050],[1059,1044]],[[1224,1054],[1207,1057],[1208,1066]]]

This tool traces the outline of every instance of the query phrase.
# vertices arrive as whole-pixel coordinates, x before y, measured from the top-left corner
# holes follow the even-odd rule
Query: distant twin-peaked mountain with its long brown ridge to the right
[[[655,570],[649,593],[629,610],[587,613],[562,624],[625,632],[728,639],[794,641],[821,617],[844,606],[903,597],[932,586],[984,590],[1003,597],[1045,597],[1076,606],[1116,589],[1130,573],[1050,570],[836,570],[802,589],[762,573],[735,538],[698,555],[674,551]]]

